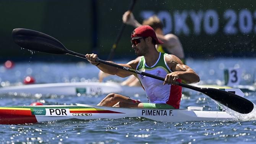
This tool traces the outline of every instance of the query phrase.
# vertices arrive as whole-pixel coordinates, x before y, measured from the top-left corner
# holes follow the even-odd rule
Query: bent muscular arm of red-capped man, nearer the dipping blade
[[[184,65],[175,55],[165,56],[165,61],[173,72],[167,74],[164,84],[174,84],[178,78],[185,80],[189,84],[200,81],[198,74],[189,66]]]

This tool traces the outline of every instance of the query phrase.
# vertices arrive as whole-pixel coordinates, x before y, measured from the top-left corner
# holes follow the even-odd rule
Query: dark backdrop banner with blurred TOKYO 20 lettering
[[[44,32],[70,50],[94,52],[106,58],[129,3],[130,0],[1,0],[0,59],[31,57],[29,51],[14,44],[14,28]],[[133,14],[140,23],[151,15],[159,16],[165,34],[179,37],[186,57],[255,57],[255,5],[253,0],[137,0]],[[136,57],[130,43],[133,29],[126,26],[114,58]],[[45,55],[34,53],[33,57]]]

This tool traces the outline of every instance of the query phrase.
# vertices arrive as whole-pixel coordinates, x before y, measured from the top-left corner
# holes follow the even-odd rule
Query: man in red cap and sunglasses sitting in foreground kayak
[[[155,45],[163,44],[163,42],[157,39],[154,29],[148,25],[134,29],[131,34],[131,43],[136,55],[141,58],[119,65],[160,76],[165,78],[165,81],[98,63],[95,61],[96,54],[86,54],[88,61],[104,73],[123,78],[132,74],[136,76],[146,91],[150,102],[142,103],[120,94],[109,94],[98,105],[134,108],[179,108],[182,88],[174,85],[175,81],[181,82],[181,79],[183,79],[186,83],[197,83],[199,82],[198,74],[189,66],[184,65],[175,55],[158,52]]]

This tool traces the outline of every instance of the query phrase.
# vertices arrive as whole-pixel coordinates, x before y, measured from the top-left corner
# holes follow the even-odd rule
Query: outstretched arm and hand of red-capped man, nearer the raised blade
[[[86,54],[85,55],[87,60],[92,64],[92,65],[97,65],[98,62],[96,62],[96,58],[98,57],[96,54],[92,53],[92,54]],[[114,63],[112,61],[108,61],[110,63]],[[128,62],[127,64],[117,64],[117,65],[121,65],[121,66],[125,66],[127,68],[132,68],[132,69],[135,69],[136,66],[138,65],[139,63],[139,60],[132,60],[130,62]],[[116,63],[115,63],[116,64]],[[110,66],[110,65],[105,65],[104,63],[100,63],[99,65],[97,65],[97,67],[103,71],[104,73],[108,73],[108,74],[112,74],[112,75],[117,75],[117,76],[120,76],[122,78],[125,78],[127,76],[130,76],[134,73],[131,73],[130,71],[126,71],[126,70],[123,70],[121,68],[117,68],[115,66]],[[136,74],[134,74],[136,75]]]

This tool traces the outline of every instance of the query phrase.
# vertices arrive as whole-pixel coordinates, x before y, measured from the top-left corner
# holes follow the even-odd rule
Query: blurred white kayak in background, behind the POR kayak
[[[57,94],[57,95],[77,95],[77,94],[145,94],[140,86],[121,86],[118,83],[108,82],[76,82],[76,83],[48,83],[48,84],[30,84],[21,86],[0,87],[0,94]]]

